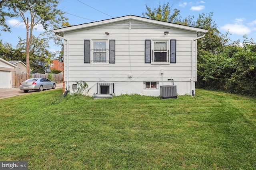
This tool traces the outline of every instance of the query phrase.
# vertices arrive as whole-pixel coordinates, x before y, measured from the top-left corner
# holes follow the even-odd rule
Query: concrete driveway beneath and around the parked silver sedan
[[[56,88],[62,88],[62,83],[57,83]],[[20,96],[23,94],[30,94],[34,92],[38,93],[38,90],[29,90],[27,93],[25,93],[23,90],[20,90],[19,88],[0,88],[0,99],[10,98],[13,96]]]

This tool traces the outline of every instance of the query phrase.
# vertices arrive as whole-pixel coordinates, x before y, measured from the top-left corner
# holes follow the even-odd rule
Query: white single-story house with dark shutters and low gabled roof
[[[90,96],[160,96],[171,79],[178,95],[195,93],[205,29],[129,15],[53,31],[64,39],[64,90],[71,94],[85,81]]]

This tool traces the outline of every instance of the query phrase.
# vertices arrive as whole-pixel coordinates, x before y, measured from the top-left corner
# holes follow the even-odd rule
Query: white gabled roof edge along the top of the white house
[[[84,23],[84,24],[80,24],[80,25],[73,25],[73,26],[69,26],[69,27],[58,28],[58,29],[54,29],[53,32],[63,34],[65,31],[73,31],[73,30],[77,30],[77,29],[96,27],[98,25],[100,25],[100,26],[108,25],[108,24],[112,24],[112,23],[115,23],[115,22],[125,21],[125,20],[152,23],[152,24],[162,25],[162,26],[165,26],[165,27],[184,29],[184,30],[187,30],[187,31],[195,31],[196,33],[200,33],[200,32],[201,33],[206,33],[206,32],[208,32],[206,29],[202,29],[202,28],[191,27],[191,26],[181,25],[181,24],[177,24],[177,23],[170,23],[170,22],[166,22],[166,21],[153,20],[153,19],[150,19],[150,18],[144,18],[144,17],[134,16],[134,15],[128,15],[128,16],[112,18],[112,19],[108,19],[108,20],[102,20],[102,21],[96,21],[96,22]]]

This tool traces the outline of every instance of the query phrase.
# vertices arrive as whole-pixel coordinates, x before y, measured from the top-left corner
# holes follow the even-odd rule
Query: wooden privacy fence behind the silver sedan
[[[48,78],[49,73],[45,73],[45,74],[40,74],[40,73],[36,73],[36,74],[29,74],[30,78],[39,78],[39,77],[44,77],[44,78]],[[27,74],[26,73],[15,73],[15,87],[18,88],[20,87],[20,83],[24,82],[25,80],[27,80]],[[56,83],[62,82],[62,72],[59,74],[52,74],[52,80],[55,81]]]

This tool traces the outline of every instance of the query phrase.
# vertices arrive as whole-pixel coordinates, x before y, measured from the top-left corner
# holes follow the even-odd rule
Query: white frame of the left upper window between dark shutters
[[[106,61],[105,62],[97,62],[94,61],[94,42],[106,42]],[[90,60],[92,65],[108,65],[109,64],[109,45],[108,45],[108,39],[92,39],[91,40],[91,54],[90,54]]]

